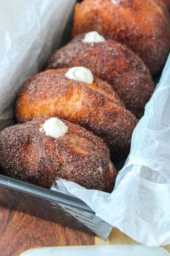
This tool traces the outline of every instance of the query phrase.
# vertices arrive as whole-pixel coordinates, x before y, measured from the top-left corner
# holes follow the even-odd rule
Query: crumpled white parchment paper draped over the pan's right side
[[[87,190],[63,180],[58,189],[81,199],[99,218],[142,244],[170,244],[170,57],[135,128],[114,191]]]

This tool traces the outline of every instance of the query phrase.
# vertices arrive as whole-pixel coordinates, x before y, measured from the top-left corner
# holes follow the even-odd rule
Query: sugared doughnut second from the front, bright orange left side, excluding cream
[[[135,116],[117,104],[117,99],[115,102],[87,83],[66,78],[67,70],[46,70],[27,80],[17,98],[17,120],[26,122],[42,115],[64,117],[103,138],[114,159],[128,154],[137,124]]]

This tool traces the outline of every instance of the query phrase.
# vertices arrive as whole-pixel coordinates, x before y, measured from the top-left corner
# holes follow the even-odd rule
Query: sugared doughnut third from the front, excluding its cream
[[[82,43],[83,37],[84,34],[76,36],[67,46],[56,51],[48,59],[47,69],[88,67],[98,78],[113,86],[127,110],[141,117],[153,93],[153,80],[143,61],[116,41],[85,44]]]

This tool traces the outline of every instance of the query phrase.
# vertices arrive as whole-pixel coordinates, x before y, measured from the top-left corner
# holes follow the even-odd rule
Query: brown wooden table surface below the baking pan
[[[0,255],[19,256],[26,249],[67,245],[135,244],[114,229],[108,241],[56,223],[0,207]],[[166,249],[170,252],[170,246]]]

